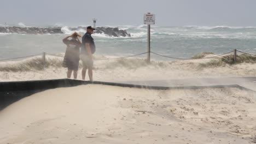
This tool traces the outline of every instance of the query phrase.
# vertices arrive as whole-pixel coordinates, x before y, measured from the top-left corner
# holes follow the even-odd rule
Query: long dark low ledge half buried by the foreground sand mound
[[[247,89],[239,85],[161,87],[161,86],[144,86],[144,85],[133,85],[133,84],[101,82],[101,81],[90,82],[90,81],[72,80],[72,79],[11,81],[11,82],[0,82],[0,110],[4,109],[4,107],[14,103],[15,101],[18,101],[22,98],[30,96],[34,93],[45,91],[47,89],[53,89],[53,88],[59,88],[59,87],[73,87],[73,86],[86,85],[86,84],[147,88],[147,89],[156,89],[156,90],[236,87],[240,89],[245,89],[246,91],[251,91],[251,89]]]

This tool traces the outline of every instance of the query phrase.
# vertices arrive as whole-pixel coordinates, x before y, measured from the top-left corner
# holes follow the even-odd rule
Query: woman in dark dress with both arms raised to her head
[[[62,41],[67,45],[65,52],[65,57],[63,60],[63,67],[68,68],[67,78],[70,79],[72,71],[74,79],[77,79],[77,71],[79,65],[79,49],[82,45],[78,37],[81,37],[77,32],[74,32],[72,35],[67,36]],[[68,40],[68,38],[72,38]]]

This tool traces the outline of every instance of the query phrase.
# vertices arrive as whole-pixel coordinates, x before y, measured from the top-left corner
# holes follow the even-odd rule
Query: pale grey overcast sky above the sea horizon
[[[256,26],[256,0],[1,0],[0,24],[46,26],[143,25],[144,13],[157,26]]]

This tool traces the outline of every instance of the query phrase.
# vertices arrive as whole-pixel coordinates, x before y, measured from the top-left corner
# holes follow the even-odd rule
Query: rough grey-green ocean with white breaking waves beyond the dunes
[[[107,27],[107,26],[104,26]],[[113,26],[112,26],[113,27]],[[92,34],[96,43],[96,55],[124,57],[147,52],[147,26],[116,26],[125,29],[131,37],[108,37]],[[42,52],[60,55],[66,50],[62,39],[72,31],[62,27],[65,34],[7,34],[0,33],[0,59],[37,55]],[[85,31],[79,31],[84,34]],[[191,58],[197,53],[222,54],[234,49],[256,54],[256,27],[227,26],[151,26],[151,51],[160,55]],[[151,54],[152,59],[173,59]],[[147,57],[141,55],[138,57]]]

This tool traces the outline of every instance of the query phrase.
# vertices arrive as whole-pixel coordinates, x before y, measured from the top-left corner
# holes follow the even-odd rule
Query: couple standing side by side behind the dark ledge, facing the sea
[[[92,54],[94,54],[96,47],[94,44],[94,38],[91,37],[91,34],[94,33],[94,30],[95,29],[91,26],[87,27],[87,31],[82,37],[82,43],[78,38],[81,36],[77,32],[74,32],[72,35],[69,35],[62,40],[63,43],[67,45],[63,59],[63,67],[68,68],[68,78],[71,77],[73,71],[74,79],[77,79],[79,59],[81,59],[83,63],[82,79],[85,80],[86,70],[88,69],[89,79],[92,81],[92,67],[94,65]],[[72,39],[69,40],[68,38]]]

